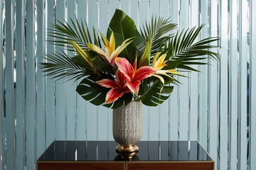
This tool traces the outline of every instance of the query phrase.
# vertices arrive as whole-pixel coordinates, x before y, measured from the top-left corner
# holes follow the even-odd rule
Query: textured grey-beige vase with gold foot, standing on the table
[[[117,152],[137,152],[142,138],[142,103],[131,101],[113,109],[113,137],[119,143]]]

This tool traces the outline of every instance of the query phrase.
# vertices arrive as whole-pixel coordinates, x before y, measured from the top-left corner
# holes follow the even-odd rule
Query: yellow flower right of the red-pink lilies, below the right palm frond
[[[165,60],[166,58],[166,53],[164,55],[161,55],[159,57],[161,52],[156,52],[156,55],[154,55],[153,62],[152,62],[152,67],[155,69],[156,74],[154,74],[154,77],[157,77],[160,79],[162,84],[164,84],[164,78],[161,77],[160,75],[164,75],[166,77],[170,77],[173,79],[169,74],[175,74],[175,75],[182,75],[176,71],[176,69],[163,69],[166,66],[166,62],[168,60]],[[157,59],[159,57],[159,59]],[[169,73],[169,74],[168,74]]]

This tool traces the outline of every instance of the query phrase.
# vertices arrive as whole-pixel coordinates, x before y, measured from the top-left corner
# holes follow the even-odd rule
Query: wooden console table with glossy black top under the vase
[[[142,141],[132,159],[115,152],[114,141],[54,141],[37,160],[38,170],[214,170],[196,141]]]

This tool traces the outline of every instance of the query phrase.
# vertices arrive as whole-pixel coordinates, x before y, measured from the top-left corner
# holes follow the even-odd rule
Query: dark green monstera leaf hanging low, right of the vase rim
[[[143,81],[139,87],[139,100],[146,106],[157,106],[169,98],[173,89],[174,86],[163,86],[159,79],[150,77],[148,81]]]

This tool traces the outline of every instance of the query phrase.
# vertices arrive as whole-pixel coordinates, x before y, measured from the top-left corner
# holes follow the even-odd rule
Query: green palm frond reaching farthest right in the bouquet
[[[166,49],[170,49],[168,57],[171,62],[178,61],[176,68],[192,69],[189,65],[193,64],[206,64],[206,62],[198,62],[199,60],[205,60],[206,58],[212,58],[213,60],[220,60],[220,55],[217,52],[211,51],[213,48],[217,48],[218,45],[210,45],[211,42],[218,41],[218,37],[205,38],[196,42],[196,38],[203,26],[198,28],[194,27],[191,30],[186,30],[181,33],[177,33],[174,38],[171,39]],[[201,57],[206,55],[207,57]],[[171,68],[171,64],[169,64]]]

